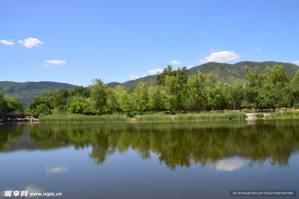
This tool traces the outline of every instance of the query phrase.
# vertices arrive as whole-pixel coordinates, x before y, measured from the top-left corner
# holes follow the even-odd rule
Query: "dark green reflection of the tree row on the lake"
[[[266,160],[287,166],[292,153],[298,152],[298,121],[36,124],[29,127],[29,132],[30,138],[45,149],[91,146],[89,156],[99,165],[110,155],[134,150],[142,159],[157,156],[170,169],[198,163],[221,170],[243,166],[238,162],[226,167],[222,164],[223,159],[234,157],[249,159],[249,167],[263,165]],[[4,142],[21,132],[4,131]]]

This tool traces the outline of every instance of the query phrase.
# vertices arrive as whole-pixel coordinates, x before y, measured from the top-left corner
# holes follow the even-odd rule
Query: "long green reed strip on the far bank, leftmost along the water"
[[[103,116],[86,116],[80,114],[48,115],[39,118],[42,123],[80,123],[80,122],[124,122],[129,121],[128,116],[119,114]]]

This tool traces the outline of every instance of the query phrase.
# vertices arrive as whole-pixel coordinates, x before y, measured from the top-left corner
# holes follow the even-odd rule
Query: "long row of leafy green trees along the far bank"
[[[223,110],[275,110],[281,107],[299,107],[299,70],[290,81],[281,65],[259,67],[247,72],[245,84],[222,84],[213,72],[187,76],[187,68],[173,69],[171,65],[157,74],[156,81],[140,82],[129,90],[118,85],[110,88],[102,80],[74,86],[73,89],[43,92],[35,96],[25,111],[34,117],[40,114],[77,113],[86,115],[212,112]],[[1,98],[0,98],[1,99]]]

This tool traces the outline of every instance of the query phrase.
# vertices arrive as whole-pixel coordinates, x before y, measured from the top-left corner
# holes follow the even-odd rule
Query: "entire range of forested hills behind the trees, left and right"
[[[248,66],[249,69],[254,69],[256,66],[259,66],[260,70],[264,72],[267,66],[273,65],[283,65],[284,70],[292,79],[299,69],[299,67],[292,63],[282,63],[282,62],[251,62],[244,61],[238,62],[235,64],[228,63],[216,63],[216,62],[208,62],[199,66],[195,66],[187,70],[187,75],[192,76],[196,75],[198,71],[202,73],[212,72],[215,74],[215,78],[217,81],[221,81],[222,83],[234,83],[235,81],[239,83],[246,82],[246,71],[244,70],[244,66]],[[156,75],[148,75],[143,78],[138,78],[135,80],[126,81],[124,83],[118,82],[110,82],[107,83],[109,87],[115,88],[117,85],[121,85],[126,89],[129,89],[130,86],[137,86],[137,84],[141,81],[144,82],[154,82],[156,80]],[[41,95],[44,91],[58,91],[61,88],[72,89],[74,85],[68,83],[58,83],[58,82],[49,82],[49,81],[41,81],[41,82],[12,82],[12,81],[0,81],[0,90],[10,97],[17,97],[22,102],[23,105],[28,106],[30,101],[33,99],[35,95]]]

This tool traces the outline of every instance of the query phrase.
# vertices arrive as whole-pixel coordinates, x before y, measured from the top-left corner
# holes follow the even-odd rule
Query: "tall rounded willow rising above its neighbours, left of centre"
[[[100,112],[107,104],[107,87],[101,79],[93,79],[92,85],[90,85],[92,107]]]

